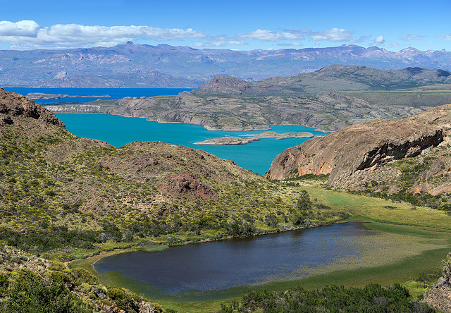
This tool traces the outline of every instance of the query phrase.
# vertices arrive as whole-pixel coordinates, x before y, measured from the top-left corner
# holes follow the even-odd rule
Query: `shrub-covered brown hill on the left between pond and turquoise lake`
[[[111,147],[69,133],[19,94],[0,89],[0,99],[0,239],[8,245],[63,249],[70,259],[109,240],[180,243],[340,219],[314,207],[299,217],[287,186],[233,161],[163,142]]]

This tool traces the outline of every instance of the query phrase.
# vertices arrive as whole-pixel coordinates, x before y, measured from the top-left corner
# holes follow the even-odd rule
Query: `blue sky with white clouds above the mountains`
[[[451,0],[0,0],[0,49],[132,41],[199,49],[357,44],[451,51],[449,13]]]

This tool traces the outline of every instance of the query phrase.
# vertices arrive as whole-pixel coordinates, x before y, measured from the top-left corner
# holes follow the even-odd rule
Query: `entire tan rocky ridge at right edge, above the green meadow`
[[[324,174],[329,175],[331,186],[357,188],[378,182],[379,188],[385,185],[397,192],[400,187],[396,180],[407,175],[407,169],[402,167],[404,161],[396,163],[396,160],[412,159],[412,164],[424,164],[424,169],[418,173],[410,192],[433,195],[450,192],[447,179],[450,160],[445,152],[450,142],[450,113],[448,104],[400,121],[360,123],[308,140],[279,154],[268,177],[280,180]]]

